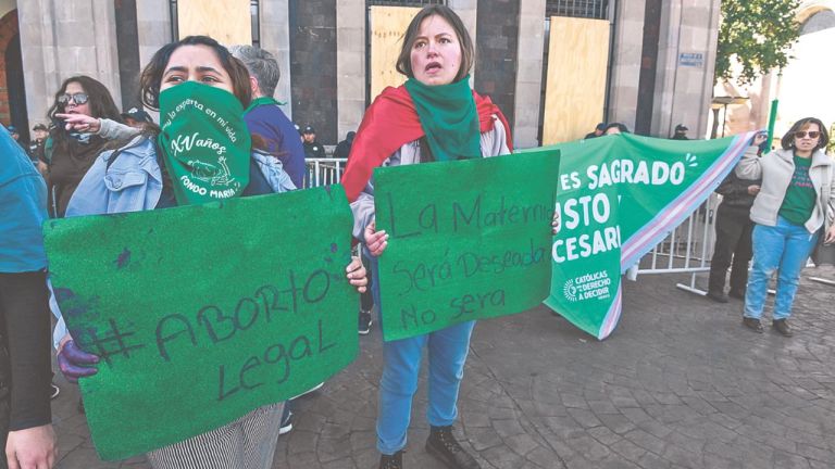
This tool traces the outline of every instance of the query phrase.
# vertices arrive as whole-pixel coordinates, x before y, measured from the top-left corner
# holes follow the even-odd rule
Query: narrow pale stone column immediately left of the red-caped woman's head
[[[367,14],[364,0],[336,2],[337,141],[357,131],[365,113]]]

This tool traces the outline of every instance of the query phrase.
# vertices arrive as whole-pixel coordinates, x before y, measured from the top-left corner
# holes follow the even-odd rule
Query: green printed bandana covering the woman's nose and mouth
[[[239,195],[249,183],[251,141],[244,107],[228,91],[187,81],[160,93],[159,143],[177,203]]]

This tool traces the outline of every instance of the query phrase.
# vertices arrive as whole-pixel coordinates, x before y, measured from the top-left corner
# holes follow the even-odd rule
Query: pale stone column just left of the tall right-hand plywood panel
[[[516,52],[516,100],[513,144],[538,147],[539,115],[543,109],[543,56],[545,48],[545,0],[522,0],[519,10]]]

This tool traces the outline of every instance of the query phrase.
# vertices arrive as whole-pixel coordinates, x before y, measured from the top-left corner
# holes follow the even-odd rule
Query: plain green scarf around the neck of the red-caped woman
[[[470,89],[470,75],[438,86],[426,86],[409,78],[406,89],[412,97],[436,161],[482,157],[478,114]]]

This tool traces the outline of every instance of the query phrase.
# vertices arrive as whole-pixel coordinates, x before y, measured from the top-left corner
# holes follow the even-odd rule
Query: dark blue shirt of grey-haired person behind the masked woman
[[[292,183],[300,188],[304,181],[304,149],[301,138],[290,119],[275,104],[262,104],[244,115],[244,121],[251,134],[257,134],[266,141],[266,151],[277,157]]]

